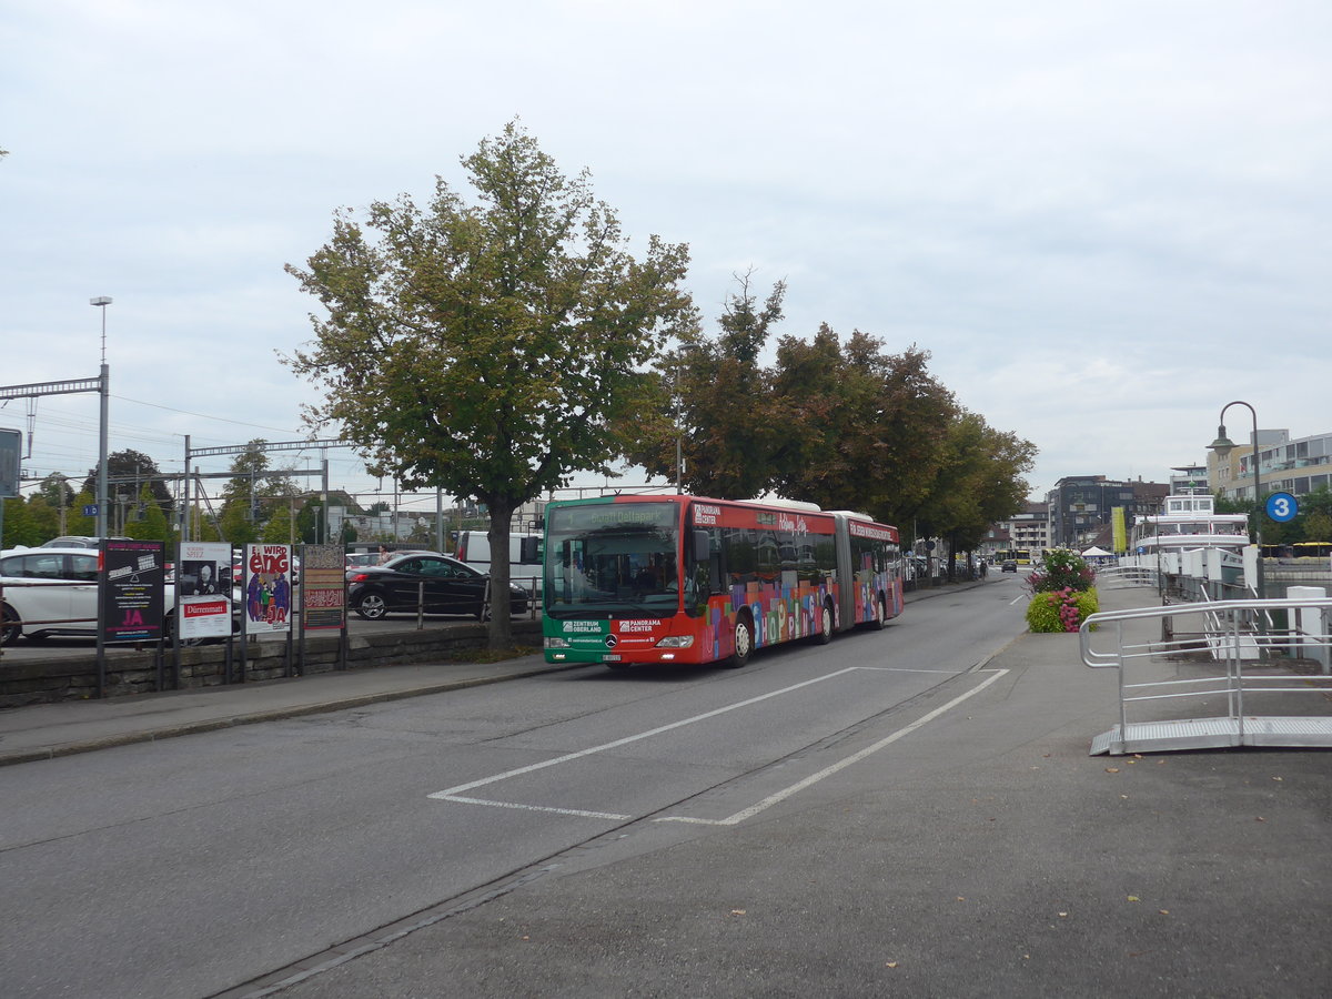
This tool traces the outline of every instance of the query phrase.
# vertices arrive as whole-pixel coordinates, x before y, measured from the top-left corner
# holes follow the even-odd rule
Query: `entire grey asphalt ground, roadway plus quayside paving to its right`
[[[7,767],[4,994],[1327,994],[1327,757],[1088,758],[1020,595]]]

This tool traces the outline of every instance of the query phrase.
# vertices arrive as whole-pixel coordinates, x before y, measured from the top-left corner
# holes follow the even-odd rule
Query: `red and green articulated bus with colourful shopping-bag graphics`
[[[896,527],[809,503],[614,496],[546,507],[546,662],[721,662],[902,613]]]

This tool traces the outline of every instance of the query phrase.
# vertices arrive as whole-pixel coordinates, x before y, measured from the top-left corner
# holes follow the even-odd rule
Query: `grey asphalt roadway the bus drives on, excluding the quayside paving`
[[[209,995],[614,830],[694,839],[1006,641],[979,593],[960,626],[928,601],[738,671],[593,667],[8,767],[5,992]]]

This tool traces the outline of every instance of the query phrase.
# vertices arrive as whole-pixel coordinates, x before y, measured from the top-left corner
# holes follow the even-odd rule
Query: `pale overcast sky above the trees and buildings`
[[[277,353],[317,304],[282,265],[341,206],[470,193],[518,117],[638,248],[690,245],[710,328],[737,272],[785,278],[779,334],[931,352],[1039,448],[1034,496],[1164,481],[1231,400],[1332,430],[1329,56],[1325,0],[19,0],[0,385],[95,378],[111,296],[112,450],[305,437]],[[29,473],[96,462],[96,396],[32,425]]]

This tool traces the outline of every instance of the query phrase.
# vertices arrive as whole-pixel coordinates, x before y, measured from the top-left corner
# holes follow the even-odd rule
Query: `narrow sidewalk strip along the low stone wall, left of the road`
[[[915,590],[907,594],[907,602],[982,585],[968,582]],[[0,766],[236,725],[341,711],[571,669],[583,669],[583,665],[555,666],[545,663],[541,655],[526,655],[496,663],[382,666],[260,683],[5,709],[0,710]]]

